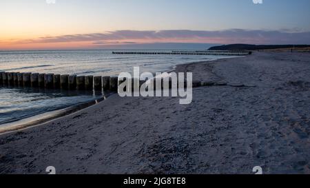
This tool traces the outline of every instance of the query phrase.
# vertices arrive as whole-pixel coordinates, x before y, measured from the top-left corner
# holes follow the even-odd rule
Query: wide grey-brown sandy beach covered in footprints
[[[254,52],[179,65],[221,83],[121,98],[0,136],[0,174],[310,174],[310,54]],[[227,85],[223,84],[227,83]]]

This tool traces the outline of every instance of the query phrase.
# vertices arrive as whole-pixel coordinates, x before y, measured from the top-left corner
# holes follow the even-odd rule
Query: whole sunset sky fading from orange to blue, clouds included
[[[310,44],[309,8],[309,0],[1,0],[0,50]]]

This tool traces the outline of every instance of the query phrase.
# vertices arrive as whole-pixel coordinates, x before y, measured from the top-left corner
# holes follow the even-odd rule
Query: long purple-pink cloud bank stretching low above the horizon
[[[76,43],[93,45],[128,43],[255,43],[255,44],[310,44],[310,32],[288,30],[116,30],[102,33],[67,34],[43,36],[37,39],[15,41],[15,43]]]

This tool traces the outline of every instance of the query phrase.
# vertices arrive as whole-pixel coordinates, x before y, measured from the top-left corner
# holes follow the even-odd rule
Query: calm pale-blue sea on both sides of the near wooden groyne
[[[219,58],[224,56],[120,55],[112,54],[112,50],[14,51],[0,52],[0,71],[113,76],[132,72],[134,66],[139,66],[141,72],[163,72],[178,64]],[[0,126],[100,97],[92,93],[0,87]]]

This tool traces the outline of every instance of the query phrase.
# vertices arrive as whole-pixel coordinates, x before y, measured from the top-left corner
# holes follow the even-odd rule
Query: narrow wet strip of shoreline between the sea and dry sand
[[[244,57],[244,56],[223,57],[220,59],[231,59],[231,58],[242,58],[242,57]],[[209,61],[217,61],[220,59],[215,59],[215,60],[213,59],[213,60],[209,60]],[[170,67],[168,70],[165,70],[164,72],[167,72],[167,73],[176,72],[176,70],[178,70],[178,67],[182,67],[182,66],[186,66],[186,65],[192,65],[192,64],[196,64],[196,63],[204,63],[204,62],[206,62],[206,61],[182,63],[182,64],[178,64],[176,66]],[[0,136],[3,134],[9,134],[12,132],[21,131],[23,129],[28,129],[30,127],[37,127],[37,126],[40,126],[44,123],[49,123],[50,121],[53,121],[57,118],[61,118],[61,117],[68,116],[70,114],[74,114],[74,112],[79,112],[82,109],[85,109],[87,107],[90,107],[92,105],[96,105],[97,103],[100,103],[102,101],[107,100],[108,96],[110,96],[110,94],[108,94],[107,96],[103,96],[103,98],[99,98],[95,101],[90,101],[88,103],[83,103],[81,105],[66,107],[64,109],[56,109],[56,110],[53,110],[51,112],[45,112],[43,114],[37,114],[35,116],[30,116],[28,118],[20,119],[18,121],[13,121],[10,123],[4,123],[4,124],[0,125]],[[23,121],[26,121],[26,123],[22,123]],[[1,126],[3,126],[3,127],[1,127]]]

